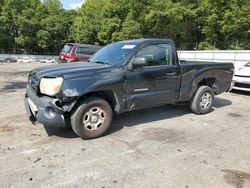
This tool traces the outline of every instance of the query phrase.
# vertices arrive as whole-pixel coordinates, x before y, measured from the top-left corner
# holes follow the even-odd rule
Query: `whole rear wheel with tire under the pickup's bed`
[[[191,110],[195,114],[207,114],[211,111],[214,103],[214,92],[208,86],[201,86],[196,91],[191,101]]]

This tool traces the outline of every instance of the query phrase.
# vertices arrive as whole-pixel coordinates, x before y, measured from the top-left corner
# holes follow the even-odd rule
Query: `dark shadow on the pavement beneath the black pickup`
[[[219,97],[215,98],[214,108],[223,108],[231,105],[232,102]],[[111,135],[124,127],[132,127],[145,123],[153,123],[163,119],[183,116],[192,113],[189,105],[167,105],[145,110],[127,112],[121,115],[115,115],[110,129],[105,135]],[[63,138],[78,137],[71,128],[49,128],[45,127],[48,136],[58,136]]]

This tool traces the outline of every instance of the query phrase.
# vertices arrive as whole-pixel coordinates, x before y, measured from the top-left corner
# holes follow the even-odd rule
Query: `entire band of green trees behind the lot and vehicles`
[[[58,54],[66,42],[170,38],[179,49],[250,49],[249,0],[1,0],[0,52]]]

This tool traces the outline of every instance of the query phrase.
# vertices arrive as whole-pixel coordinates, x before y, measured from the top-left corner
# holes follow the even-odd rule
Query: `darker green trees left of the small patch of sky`
[[[5,53],[58,54],[70,39],[75,11],[60,0],[3,0],[0,4],[0,49]]]

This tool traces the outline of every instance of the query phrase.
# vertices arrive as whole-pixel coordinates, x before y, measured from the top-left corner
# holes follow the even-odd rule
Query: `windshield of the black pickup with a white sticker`
[[[91,59],[92,63],[122,65],[132,53],[136,45],[114,43],[99,50]]]

